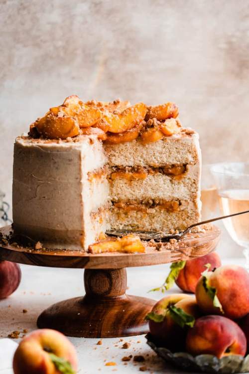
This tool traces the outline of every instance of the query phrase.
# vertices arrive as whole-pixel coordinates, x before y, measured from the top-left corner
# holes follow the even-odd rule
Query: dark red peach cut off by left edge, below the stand
[[[21,281],[20,266],[14,262],[0,261],[0,299],[11,295]]]

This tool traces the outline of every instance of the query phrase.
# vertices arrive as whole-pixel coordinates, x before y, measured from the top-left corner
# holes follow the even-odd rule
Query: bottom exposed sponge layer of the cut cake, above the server
[[[150,208],[145,211],[126,211],[113,206],[111,214],[111,226],[113,230],[142,230],[170,232],[183,230],[191,224],[200,221],[199,210],[192,206],[185,209],[169,212],[160,207]]]

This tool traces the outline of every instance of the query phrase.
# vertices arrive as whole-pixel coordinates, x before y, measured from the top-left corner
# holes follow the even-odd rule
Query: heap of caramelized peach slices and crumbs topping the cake
[[[164,137],[191,135],[178,119],[178,107],[168,102],[147,106],[129,101],[83,102],[72,95],[62,105],[52,107],[42,118],[30,125],[29,139],[36,141],[80,141],[82,136],[94,135],[106,144],[119,144],[139,137],[142,144]]]

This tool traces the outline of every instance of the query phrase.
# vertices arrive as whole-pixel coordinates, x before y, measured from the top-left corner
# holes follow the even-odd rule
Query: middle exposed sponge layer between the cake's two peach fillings
[[[117,174],[117,172],[116,172]],[[199,165],[189,165],[183,175],[144,174],[143,179],[110,179],[111,199],[191,199],[196,196],[200,179]],[[142,174],[141,174],[142,175]]]

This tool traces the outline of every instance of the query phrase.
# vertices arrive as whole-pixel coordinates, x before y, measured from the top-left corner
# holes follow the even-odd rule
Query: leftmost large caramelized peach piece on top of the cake
[[[55,117],[48,114],[35,127],[40,135],[49,139],[66,139],[79,135],[78,122],[72,117]]]

